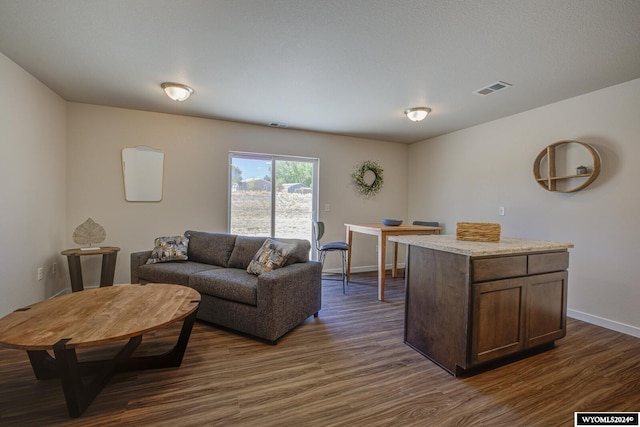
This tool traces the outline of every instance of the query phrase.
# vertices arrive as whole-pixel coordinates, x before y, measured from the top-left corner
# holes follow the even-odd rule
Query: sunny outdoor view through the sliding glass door
[[[312,241],[317,159],[231,153],[229,232]]]

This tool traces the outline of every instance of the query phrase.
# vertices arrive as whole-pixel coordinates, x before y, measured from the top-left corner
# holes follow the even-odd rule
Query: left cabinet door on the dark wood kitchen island
[[[526,279],[472,285],[471,365],[524,349]]]

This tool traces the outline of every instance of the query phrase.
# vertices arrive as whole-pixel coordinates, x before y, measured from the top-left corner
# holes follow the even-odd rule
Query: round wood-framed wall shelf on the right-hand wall
[[[561,176],[556,175],[556,149],[563,147],[568,148],[570,146],[576,146],[578,148],[586,150],[593,159],[593,167],[589,171],[589,173],[585,174],[575,174],[575,175],[566,175],[563,174]],[[541,174],[541,166],[544,166],[543,160],[546,158],[546,168],[545,176],[543,177]],[[538,154],[536,160],[533,162],[533,176],[536,181],[542,188],[547,191],[556,191],[559,193],[573,193],[575,191],[580,191],[586,188],[589,184],[596,180],[598,175],[600,174],[600,155],[598,152],[588,144],[585,144],[580,141],[558,141],[549,146],[547,146],[544,150]],[[569,187],[566,189],[558,188],[557,183],[560,181],[569,181],[579,179],[578,184]]]

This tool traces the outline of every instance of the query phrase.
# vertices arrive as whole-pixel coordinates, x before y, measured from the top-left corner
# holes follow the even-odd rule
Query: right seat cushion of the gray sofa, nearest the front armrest
[[[211,295],[249,305],[258,304],[258,276],[237,268],[217,268],[192,275],[189,286]]]

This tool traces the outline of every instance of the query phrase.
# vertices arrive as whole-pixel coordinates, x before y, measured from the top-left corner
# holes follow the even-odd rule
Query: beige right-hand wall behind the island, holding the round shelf
[[[640,336],[639,111],[634,80],[413,144],[409,217],[442,221],[448,233],[457,221],[487,221],[505,236],[574,243],[570,315]],[[533,161],[564,139],[594,146],[602,172],[583,191],[547,192]]]

